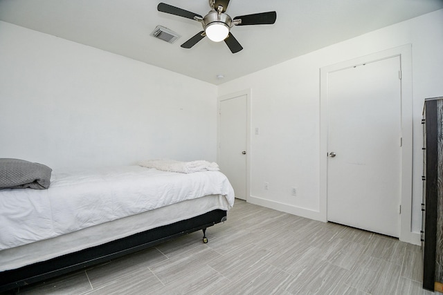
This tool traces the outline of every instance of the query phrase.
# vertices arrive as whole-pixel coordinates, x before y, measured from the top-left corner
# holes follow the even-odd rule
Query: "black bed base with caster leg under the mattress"
[[[200,229],[203,229],[204,242],[207,242],[208,240],[205,236],[206,228],[225,220],[226,211],[217,209],[194,218],[163,227],[156,227],[126,238],[107,242],[103,245],[33,265],[26,265],[18,269],[0,272],[0,292],[60,276],[98,263],[104,263]]]

